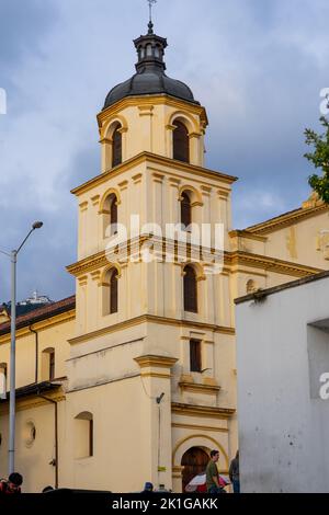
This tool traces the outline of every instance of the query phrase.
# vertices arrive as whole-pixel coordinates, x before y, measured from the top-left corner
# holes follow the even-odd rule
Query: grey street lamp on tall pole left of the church
[[[11,344],[10,344],[10,401],[9,401],[9,474],[14,472],[15,468],[15,373],[16,373],[16,263],[18,254],[26,242],[27,238],[35,229],[43,227],[42,221],[35,221],[26,238],[20,244],[18,250],[10,253],[0,251],[10,258],[11,261]]]

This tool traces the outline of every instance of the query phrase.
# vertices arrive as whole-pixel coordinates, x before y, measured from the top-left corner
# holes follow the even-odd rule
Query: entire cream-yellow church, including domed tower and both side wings
[[[151,23],[134,43],[136,73],[98,115],[101,173],[72,191],[76,296],[18,319],[15,458],[27,492],[132,492],[145,481],[181,492],[213,448],[227,473],[238,448],[234,299],[329,267],[329,209],[315,196],[232,230],[236,178],[205,168],[205,108],[166,75],[167,41]],[[189,230],[184,255],[175,232],[166,238],[181,224],[222,224],[220,273],[213,236],[202,255]],[[2,399],[0,476],[8,410]]]

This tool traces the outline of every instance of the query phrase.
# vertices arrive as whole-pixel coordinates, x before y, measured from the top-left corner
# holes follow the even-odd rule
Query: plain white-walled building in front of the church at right
[[[329,273],[236,305],[242,492],[329,492]]]

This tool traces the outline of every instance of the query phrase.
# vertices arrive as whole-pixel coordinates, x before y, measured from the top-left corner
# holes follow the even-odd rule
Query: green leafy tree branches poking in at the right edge
[[[329,204],[329,121],[326,116],[321,116],[320,123],[325,128],[324,134],[318,135],[311,129],[305,130],[306,145],[314,147],[314,152],[305,153],[305,158],[316,169],[320,168],[322,170],[321,175],[316,173],[310,175],[308,184],[326,204]]]

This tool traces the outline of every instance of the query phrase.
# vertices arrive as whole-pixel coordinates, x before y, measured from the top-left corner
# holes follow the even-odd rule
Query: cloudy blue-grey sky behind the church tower
[[[95,115],[129,78],[132,39],[146,32],[146,0],[0,0],[0,249],[33,234],[19,264],[19,298],[73,293],[71,187],[100,173]],[[319,128],[329,87],[328,0],[159,0],[167,72],[206,106],[206,165],[239,176],[234,226],[298,207],[311,172],[304,128]],[[1,111],[1,106],[0,106]],[[0,255],[0,300],[10,298]]]

